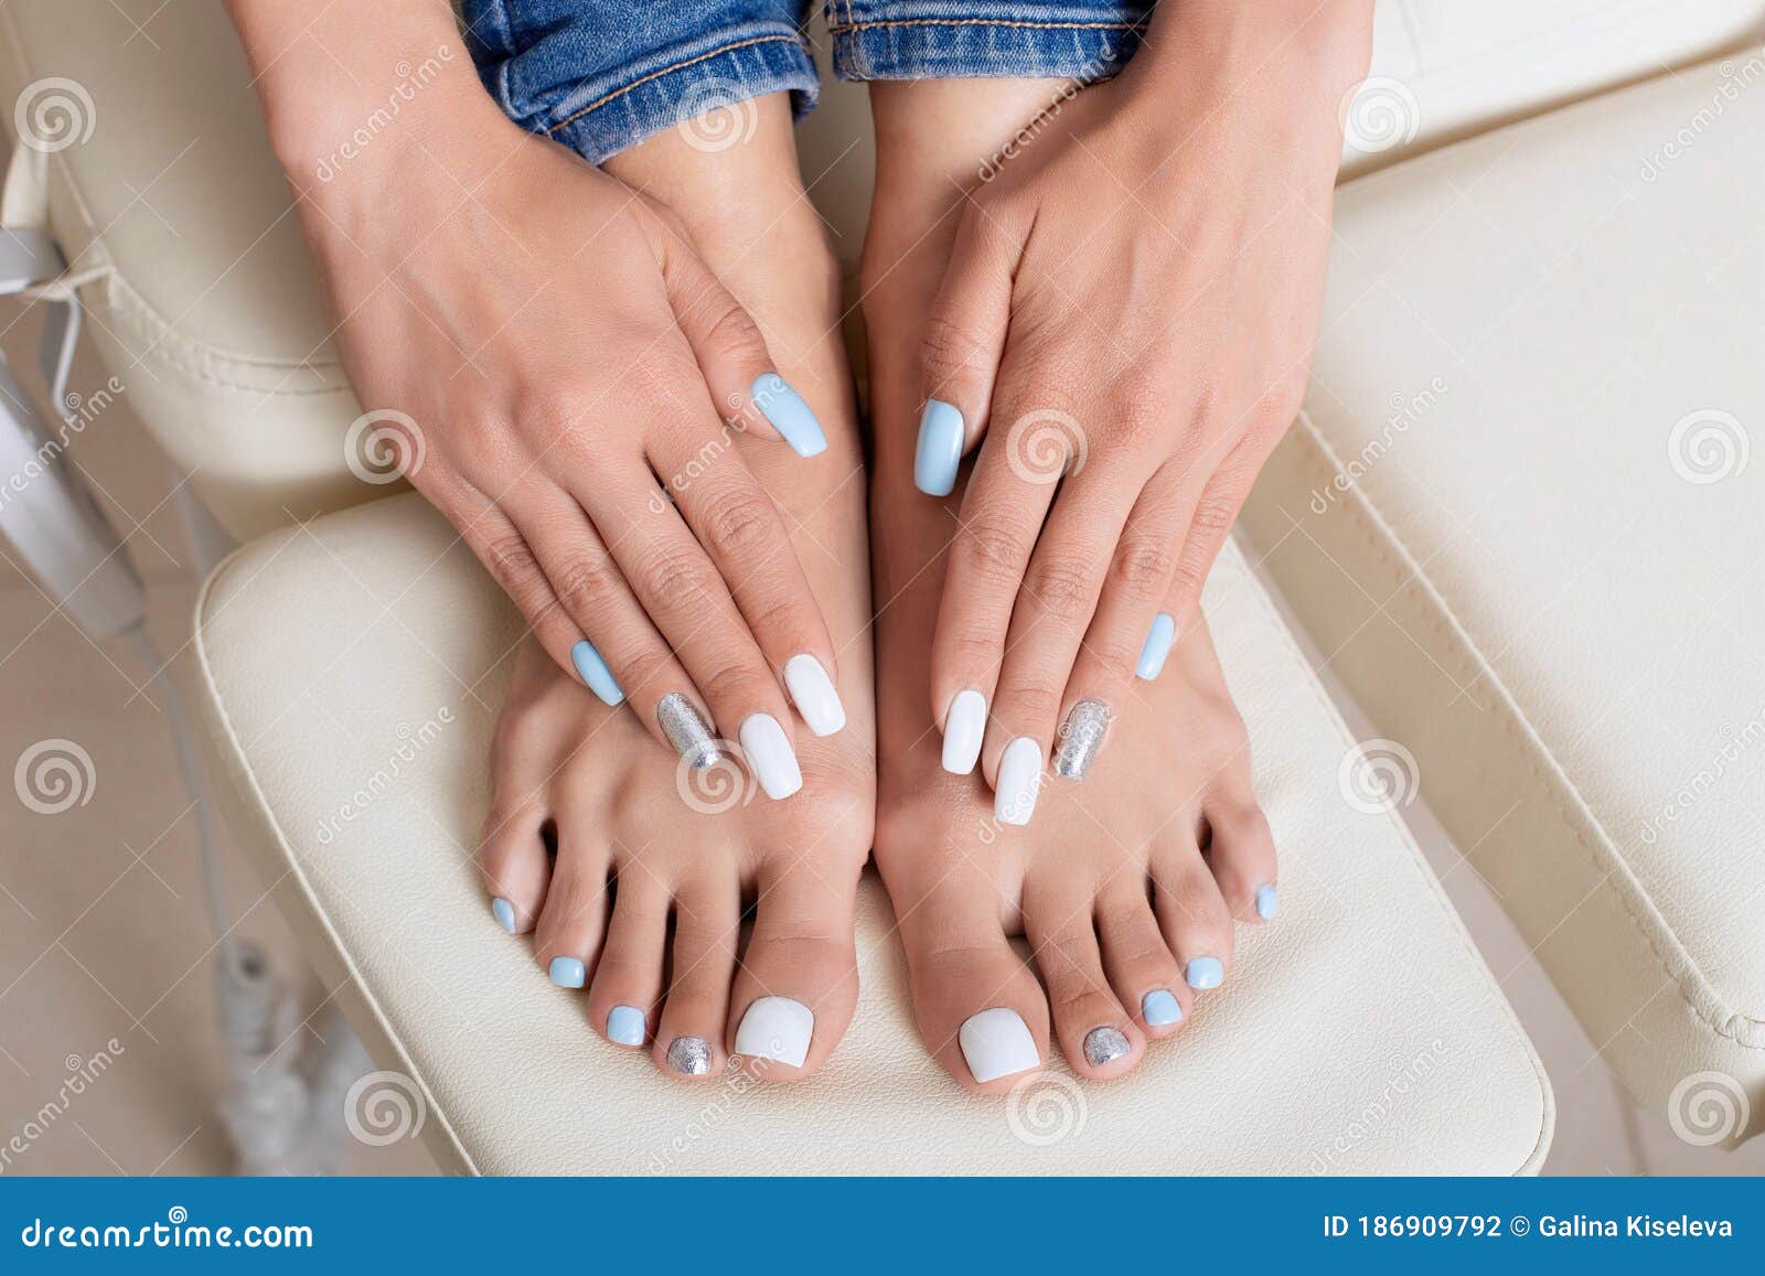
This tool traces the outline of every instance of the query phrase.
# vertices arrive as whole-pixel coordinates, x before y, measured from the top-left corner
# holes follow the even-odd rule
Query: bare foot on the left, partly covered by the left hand
[[[732,447],[780,507],[828,618],[845,722],[796,732],[801,789],[775,801],[738,745],[694,769],[530,639],[491,748],[480,845],[496,921],[531,934],[552,983],[586,990],[593,1031],[683,1080],[731,1057],[789,1080],[833,1052],[858,997],[852,904],[875,807],[863,468],[838,274],[803,198],[789,109],[755,109],[741,146],[706,154],[671,131],[609,168],[680,215],[828,436],[810,459]]]

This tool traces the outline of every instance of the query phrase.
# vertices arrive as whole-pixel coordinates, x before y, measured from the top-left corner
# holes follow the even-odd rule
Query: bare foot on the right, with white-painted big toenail
[[[1082,780],[1029,768],[1036,819],[995,810],[978,773],[944,766],[927,646],[948,501],[914,491],[921,319],[955,199],[1057,83],[879,85],[877,191],[865,244],[875,434],[879,817],[875,858],[907,949],[914,1013],[969,1089],[1010,1089],[1050,1059],[1084,1077],[1131,1071],[1230,978],[1234,921],[1276,911],[1274,845],[1250,789],[1244,725],[1197,623],[1137,679]],[[1151,671],[1149,662],[1147,671]],[[1011,937],[1024,935],[1034,972]],[[1040,981],[1038,976],[1040,974]]]

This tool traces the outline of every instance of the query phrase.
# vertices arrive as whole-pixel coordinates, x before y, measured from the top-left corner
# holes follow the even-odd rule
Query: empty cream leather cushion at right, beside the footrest
[[[1761,138],[1753,53],[1340,191],[1306,411],[1246,514],[1693,1138],[1765,1122]]]

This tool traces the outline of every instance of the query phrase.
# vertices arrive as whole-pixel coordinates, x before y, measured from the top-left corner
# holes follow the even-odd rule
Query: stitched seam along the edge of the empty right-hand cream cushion
[[[1341,459],[1336,455],[1336,450],[1331,447],[1324,432],[1311,420],[1310,413],[1301,411],[1297,420],[1304,427],[1304,431],[1311,436],[1311,439],[1324,454],[1327,462],[1336,469],[1341,469]],[[1710,985],[1710,981],[1703,976],[1703,969],[1698,965],[1698,960],[1689,951],[1686,951],[1686,946],[1679,941],[1679,935],[1675,934],[1673,927],[1668,925],[1666,918],[1661,916],[1661,912],[1649,900],[1649,891],[1636,879],[1636,874],[1631,870],[1629,861],[1626,861],[1624,856],[1617,852],[1611,837],[1606,833],[1604,824],[1594,814],[1594,808],[1588,805],[1587,798],[1581,796],[1581,791],[1576,787],[1574,780],[1569,778],[1562,762],[1557,761],[1555,752],[1550,748],[1550,745],[1544,743],[1544,738],[1537,732],[1537,729],[1532,725],[1532,720],[1525,715],[1518,701],[1507,690],[1507,685],[1502,681],[1500,674],[1497,674],[1495,669],[1488,664],[1488,660],[1484,660],[1481,646],[1470,637],[1470,630],[1458,618],[1458,612],[1453,611],[1453,605],[1446,600],[1446,597],[1435,588],[1433,581],[1428,579],[1428,574],[1423,572],[1421,565],[1416,561],[1416,556],[1410,554],[1408,545],[1403,542],[1398,531],[1378,514],[1377,507],[1371,503],[1371,498],[1368,498],[1366,492],[1363,492],[1359,487],[1354,487],[1348,492],[1348,496],[1350,499],[1343,503],[1343,508],[1354,514],[1354,524],[1366,538],[1366,542],[1371,545],[1373,552],[1387,568],[1393,570],[1393,574],[1400,581],[1405,581],[1407,577],[1407,582],[1400,584],[1400,588],[1408,589],[1412,586],[1419,586],[1426,591],[1428,600],[1433,605],[1437,605],[1440,609],[1440,614],[1444,616],[1444,623],[1440,619],[1435,619],[1431,621],[1431,628],[1440,632],[1449,627],[1453,632],[1447,634],[1447,637],[1453,637],[1456,634],[1456,637],[1463,641],[1463,651],[1458,657],[1458,664],[1465,669],[1465,672],[1472,674],[1474,679],[1477,678],[1486,679],[1490,687],[1495,688],[1495,694],[1500,697],[1502,704],[1507,709],[1502,715],[1504,731],[1511,738],[1514,738],[1516,745],[1521,747],[1520,752],[1525,757],[1527,768],[1532,771],[1532,778],[1537,780],[1541,785],[1544,785],[1544,791],[1546,794],[1550,794],[1551,805],[1555,805],[1557,814],[1564,822],[1564,828],[1569,829],[1569,835],[1587,852],[1588,859],[1592,861],[1592,867],[1596,870],[1604,870],[1601,888],[1610,889],[1617,897],[1617,900],[1624,905],[1626,916],[1629,916],[1631,925],[1636,927],[1636,934],[1643,937],[1643,942],[1649,946],[1650,955],[1654,955],[1656,964],[1661,967],[1663,978],[1679,990],[1680,1001],[1693,1011],[1693,1015],[1696,1015],[1696,1018],[1707,1024],[1717,1036],[1728,1038],[1744,1050],[1765,1048],[1765,1043],[1753,1043],[1740,1040],[1742,1032],[1751,1034],[1765,1029],[1765,1020],[1753,1018],[1751,1015],[1728,1006],[1723,995],[1717,994],[1716,988]],[[1401,563],[1393,559],[1389,549],[1380,542],[1380,537],[1389,537],[1391,547],[1394,547],[1396,552],[1401,556]],[[1454,642],[1453,646],[1458,648],[1460,644]],[[1539,755],[1548,761],[1550,775],[1546,775],[1539,768],[1537,764]],[[1573,805],[1562,801],[1564,792],[1567,792],[1567,796],[1573,798]],[[1592,829],[1597,835],[1597,845],[1588,842],[1587,833],[1583,831],[1583,824],[1592,826]],[[1611,861],[1610,868],[1601,863],[1601,858]],[[1613,877],[1619,877],[1622,882],[1629,882],[1631,891],[1619,889],[1619,886],[1613,884]],[[1633,891],[1636,897],[1640,897],[1641,904],[1654,914],[1654,927],[1657,927],[1663,934],[1666,934],[1671,939],[1673,946],[1679,949],[1679,957],[1682,958],[1682,965],[1686,967],[1684,974],[1673,972],[1673,962],[1670,962],[1668,955],[1661,951],[1656,935],[1650,934],[1650,925],[1645,925],[1647,919],[1636,912],[1636,900],[1633,900]],[[1700,997],[1696,994],[1700,992],[1703,994],[1705,1001],[1712,1002],[1712,1010],[1707,1011],[1703,1006],[1698,1004]],[[1721,1018],[1717,1017],[1717,1013],[1721,1013]]]

